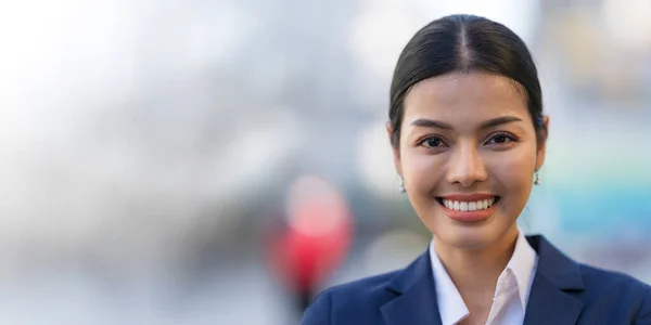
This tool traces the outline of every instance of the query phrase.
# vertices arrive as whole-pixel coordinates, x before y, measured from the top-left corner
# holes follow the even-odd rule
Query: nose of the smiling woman
[[[470,187],[474,182],[486,181],[488,174],[477,147],[471,143],[459,144],[452,153],[446,174],[450,184]]]

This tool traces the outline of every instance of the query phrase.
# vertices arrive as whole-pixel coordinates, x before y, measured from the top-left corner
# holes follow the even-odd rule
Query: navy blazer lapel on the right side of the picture
[[[527,240],[538,251],[538,265],[527,302],[524,325],[576,324],[583,302],[567,290],[584,289],[578,264],[542,236],[527,236]]]

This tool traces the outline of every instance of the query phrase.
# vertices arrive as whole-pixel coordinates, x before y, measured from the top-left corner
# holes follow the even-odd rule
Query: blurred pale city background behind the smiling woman
[[[3,1],[0,323],[297,324],[315,291],[406,265],[430,234],[388,86],[451,13],[538,64],[521,226],[651,282],[651,1]]]

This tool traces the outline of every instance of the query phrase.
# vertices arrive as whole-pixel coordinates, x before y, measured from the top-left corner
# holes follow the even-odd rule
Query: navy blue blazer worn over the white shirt
[[[651,325],[651,287],[634,277],[577,263],[544,236],[527,236],[538,253],[524,325]],[[430,255],[400,271],[322,291],[302,324],[441,325]]]

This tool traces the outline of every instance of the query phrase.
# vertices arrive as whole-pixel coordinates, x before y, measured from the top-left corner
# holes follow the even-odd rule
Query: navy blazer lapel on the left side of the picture
[[[398,273],[387,289],[398,295],[382,306],[387,325],[442,325],[430,255],[421,255]]]

